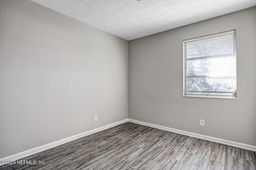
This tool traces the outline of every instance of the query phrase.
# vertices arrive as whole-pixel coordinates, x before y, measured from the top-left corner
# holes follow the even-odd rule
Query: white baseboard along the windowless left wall
[[[24,158],[26,156],[30,156],[32,154],[36,154],[38,152],[42,152],[44,150],[51,149],[53,147],[57,147],[57,146],[62,145],[64,143],[68,143],[70,141],[74,141],[74,140],[79,139],[81,137],[85,137],[85,136],[91,135],[92,133],[103,131],[103,130],[108,129],[110,127],[114,127],[116,125],[120,125],[120,124],[125,123],[125,122],[128,122],[128,119],[124,119],[124,120],[121,120],[121,121],[118,121],[118,122],[115,122],[115,123],[111,123],[109,125],[98,127],[96,129],[92,129],[92,130],[86,131],[84,133],[80,133],[80,134],[77,134],[77,135],[74,135],[74,136],[71,136],[71,137],[67,137],[65,139],[60,139],[59,141],[48,143],[48,144],[45,144],[45,145],[42,145],[42,146],[39,146],[39,147],[36,147],[36,148],[25,150],[25,151],[17,153],[17,154],[6,156],[4,158],[0,158],[0,161],[2,161],[2,160],[18,160],[18,159]],[[2,163],[0,163],[0,166],[1,165],[2,165]]]

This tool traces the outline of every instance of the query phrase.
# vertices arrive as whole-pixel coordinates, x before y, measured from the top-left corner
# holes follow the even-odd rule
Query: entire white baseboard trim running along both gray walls
[[[98,127],[96,129],[92,129],[90,131],[86,131],[84,133],[80,133],[78,135],[67,137],[65,139],[60,139],[59,141],[48,143],[46,145],[42,145],[42,146],[39,146],[39,147],[36,147],[36,148],[25,150],[23,152],[20,152],[20,153],[17,153],[17,154],[13,154],[13,155],[10,155],[10,156],[6,156],[4,158],[0,158],[0,161],[2,161],[2,160],[18,160],[18,159],[24,158],[26,156],[30,156],[32,154],[36,154],[38,152],[42,152],[44,150],[51,149],[53,147],[57,147],[57,146],[62,145],[64,143],[68,143],[70,141],[74,141],[74,140],[79,139],[81,137],[85,137],[85,136],[91,135],[92,133],[103,131],[103,130],[108,129],[110,127],[114,127],[116,125],[120,125],[122,123],[126,123],[128,121],[130,121],[132,123],[140,124],[140,125],[145,125],[145,126],[148,126],[148,127],[154,127],[154,128],[162,129],[162,130],[165,130],[165,131],[179,133],[179,134],[187,135],[187,136],[190,136],[190,137],[195,137],[195,138],[204,139],[204,140],[207,140],[207,141],[222,143],[222,144],[225,144],[225,145],[230,145],[230,146],[233,146],[233,147],[238,147],[238,148],[242,148],[242,149],[252,150],[252,151],[256,152],[256,146],[253,146],[253,145],[247,145],[247,144],[243,144],[243,143],[228,141],[228,140],[225,140],[225,139],[219,139],[219,138],[216,138],[216,137],[200,135],[198,133],[182,131],[182,130],[173,129],[173,128],[165,127],[165,126],[161,126],[161,125],[155,125],[155,124],[152,124],[152,123],[146,123],[146,122],[138,121],[138,120],[134,120],[134,119],[124,119],[124,120],[121,120],[121,121],[118,121],[118,122],[115,122],[115,123],[111,123],[109,125],[105,125],[105,126],[102,126],[102,127]],[[2,163],[0,163],[0,165],[2,165]]]

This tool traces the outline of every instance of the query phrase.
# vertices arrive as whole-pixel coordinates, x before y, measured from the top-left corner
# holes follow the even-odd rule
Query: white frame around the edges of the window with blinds
[[[215,37],[216,35],[221,35],[221,34],[225,34],[225,33],[231,33],[231,32],[234,32],[234,43],[235,43],[235,52],[234,52],[234,55],[235,55],[235,75],[236,75],[236,92],[235,92],[235,97],[232,97],[232,96],[216,96],[216,95],[212,95],[212,94],[186,94],[186,90],[185,90],[185,71],[187,71],[187,68],[185,68],[185,43],[186,42],[190,42],[190,41],[195,41],[195,40],[201,40],[201,39],[210,39],[211,37]],[[221,99],[237,99],[237,73],[236,73],[236,70],[237,70],[237,64],[236,64],[236,29],[234,30],[230,30],[230,31],[224,31],[224,32],[220,32],[220,33],[214,33],[214,34],[210,34],[210,35],[204,35],[204,36],[200,36],[200,37],[195,37],[195,38],[190,38],[190,39],[184,39],[183,40],[183,96],[184,97],[196,97],[196,98],[221,98]],[[187,60],[186,60],[187,61]],[[191,91],[192,92],[192,91]],[[195,91],[197,92],[197,91]],[[198,91],[199,92],[199,91]],[[199,92],[200,93],[200,92]],[[209,92],[206,92],[206,93],[209,93]],[[219,92],[215,92],[215,93],[219,93]],[[223,92],[225,93],[225,92]]]

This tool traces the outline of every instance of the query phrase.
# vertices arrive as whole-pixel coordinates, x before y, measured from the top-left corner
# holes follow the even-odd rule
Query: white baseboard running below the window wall
[[[132,122],[132,123],[140,124],[140,125],[154,127],[154,128],[162,129],[162,130],[165,130],[165,131],[179,133],[179,134],[187,135],[187,136],[190,136],[190,137],[195,137],[195,138],[204,139],[204,140],[207,140],[207,141],[222,143],[222,144],[225,144],[225,145],[230,145],[230,146],[233,146],[233,147],[238,147],[238,148],[242,148],[242,149],[252,150],[252,151],[256,152],[256,146],[253,146],[253,145],[247,145],[247,144],[244,144],[244,143],[228,141],[228,140],[220,139],[220,138],[216,138],[216,137],[200,135],[198,133],[182,131],[182,130],[173,129],[173,128],[170,128],[170,127],[165,127],[165,126],[160,126],[160,125],[155,125],[155,124],[152,124],[152,123],[146,123],[146,122],[138,121],[138,120],[134,120],[134,119],[129,119],[129,121]]]

